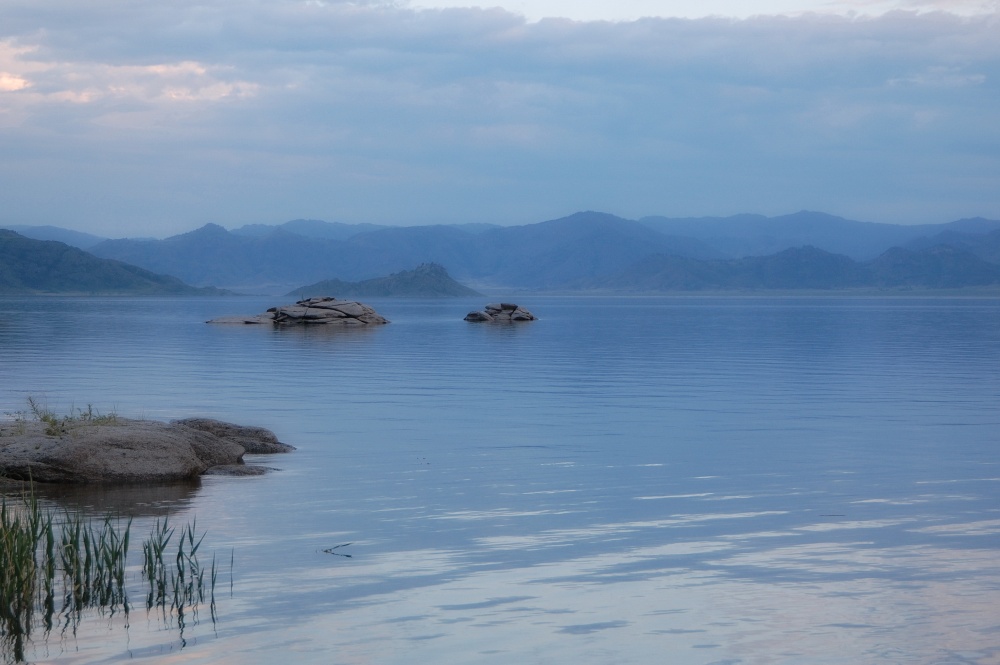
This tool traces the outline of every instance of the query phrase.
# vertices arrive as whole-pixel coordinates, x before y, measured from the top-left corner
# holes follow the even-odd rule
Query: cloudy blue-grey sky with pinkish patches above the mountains
[[[0,224],[1000,219],[996,0],[4,0]]]

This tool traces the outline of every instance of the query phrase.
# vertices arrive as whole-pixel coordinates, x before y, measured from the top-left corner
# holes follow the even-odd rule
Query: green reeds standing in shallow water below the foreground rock
[[[75,634],[90,610],[121,612],[127,623],[131,528],[131,518],[94,519],[43,508],[33,494],[15,502],[0,499],[0,654],[5,661],[23,662],[37,630],[47,638],[59,625],[63,633]],[[207,603],[216,621],[218,569],[214,556],[207,570],[199,562],[205,534],[197,535],[194,522],[176,533],[171,556],[175,528],[167,519],[157,520],[142,542],[138,584],[147,591],[146,611],[159,610],[165,620],[176,620],[183,642],[184,627],[190,618],[197,621],[199,606]]]

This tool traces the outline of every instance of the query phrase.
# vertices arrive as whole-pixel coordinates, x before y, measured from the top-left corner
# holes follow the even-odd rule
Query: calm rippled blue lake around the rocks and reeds
[[[1000,300],[0,299],[0,407],[269,427],[261,478],[59,501],[197,517],[219,620],[36,660],[998,663]],[[335,556],[323,550],[351,554]]]

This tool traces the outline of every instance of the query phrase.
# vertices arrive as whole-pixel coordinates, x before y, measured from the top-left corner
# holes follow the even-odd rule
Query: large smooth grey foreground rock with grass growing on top
[[[253,475],[255,452],[287,452],[272,432],[208,419],[163,423],[115,418],[64,423],[20,422],[0,431],[0,476],[36,483],[149,483],[206,472]]]

